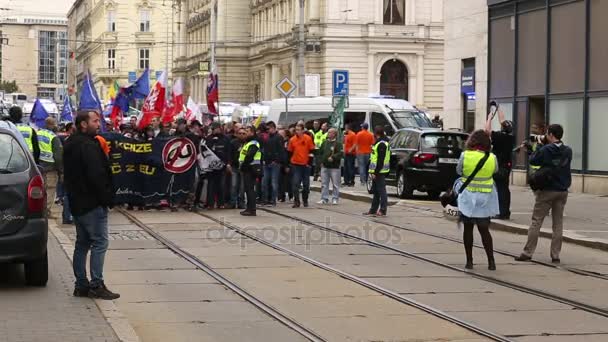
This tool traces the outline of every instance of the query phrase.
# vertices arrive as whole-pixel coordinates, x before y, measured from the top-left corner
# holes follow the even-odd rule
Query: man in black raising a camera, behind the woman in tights
[[[500,131],[492,131],[492,121],[496,113],[498,113],[498,120],[500,121]],[[500,208],[500,214],[497,218],[509,220],[511,218],[509,179],[513,167],[515,137],[513,136],[513,123],[505,120],[505,114],[499,109],[495,101],[490,102],[490,114],[486,120],[485,129],[492,139],[492,152],[498,160],[498,172],[494,174],[494,184],[496,184]]]

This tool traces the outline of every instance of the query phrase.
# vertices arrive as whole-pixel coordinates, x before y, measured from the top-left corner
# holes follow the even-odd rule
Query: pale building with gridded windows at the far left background
[[[67,88],[67,21],[62,17],[8,16],[0,20],[2,81],[16,81],[28,98],[60,102]]]

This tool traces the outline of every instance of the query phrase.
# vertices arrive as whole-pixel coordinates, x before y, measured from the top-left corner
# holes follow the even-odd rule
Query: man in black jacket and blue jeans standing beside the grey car
[[[103,281],[103,263],[108,249],[108,208],[112,206],[112,176],[108,159],[95,135],[101,124],[95,111],[80,111],[77,132],[66,140],[65,187],[76,223],[74,246],[74,296],[113,300]],[[91,282],[87,279],[87,254],[91,251]]]

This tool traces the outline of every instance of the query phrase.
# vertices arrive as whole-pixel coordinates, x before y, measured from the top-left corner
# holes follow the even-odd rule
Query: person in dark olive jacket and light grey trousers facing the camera
[[[318,204],[329,203],[329,181],[331,180],[332,200],[331,204],[338,204],[340,198],[340,161],[344,155],[342,144],[338,142],[338,131],[330,128],[327,131],[327,139],[321,143],[319,151],[319,162],[321,163],[321,200]]]

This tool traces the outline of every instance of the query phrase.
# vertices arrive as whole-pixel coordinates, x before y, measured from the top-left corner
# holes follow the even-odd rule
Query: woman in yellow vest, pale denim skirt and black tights
[[[462,176],[454,185],[454,191],[458,192],[478,164],[483,163],[469,185],[458,196],[458,210],[464,225],[463,241],[467,269],[473,268],[473,228],[476,224],[488,257],[488,269],[496,270],[490,218],[499,213],[498,194],[492,177],[498,171],[498,162],[496,156],[490,153],[491,149],[490,136],[485,131],[473,132],[456,167],[456,172]]]

